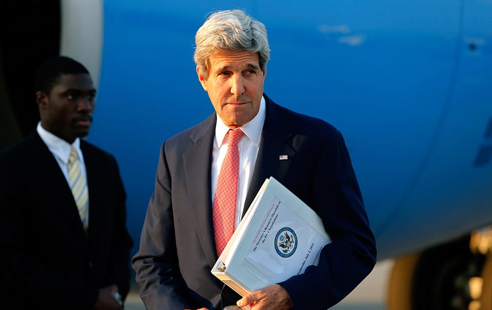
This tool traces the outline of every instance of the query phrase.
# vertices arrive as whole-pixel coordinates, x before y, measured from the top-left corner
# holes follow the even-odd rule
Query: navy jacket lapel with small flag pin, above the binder
[[[251,185],[246,195],[243,216],[266,178],[274,177],[278,182],[283,183],[296,155],[295,151],[286,143],[291,138],[291,134],[288,131],[288,126],[284,125],[285,120],[281,120],[282,117],[279,116],[279,106],[266,95],[265,101],[265,124],[261,132],[260,148],[254,165]],[[287,155],[287,159],[280,159],[281,155]]]

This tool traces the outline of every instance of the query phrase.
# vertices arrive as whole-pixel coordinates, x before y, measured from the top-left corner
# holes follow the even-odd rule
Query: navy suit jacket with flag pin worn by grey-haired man
[[[273,176],[323,220],[332,243],[318,266],[280,284],[294,309],[333,306],[372,270],[376,249],[360,189],[340,132],[266,99],[266,119],[245,212]],[[215,279],[211,162],[215,113],[163,144],[140,240],[133,257],[147,309],[221,309],[240,298]],[[287,155],[288,160],[279,160]]]

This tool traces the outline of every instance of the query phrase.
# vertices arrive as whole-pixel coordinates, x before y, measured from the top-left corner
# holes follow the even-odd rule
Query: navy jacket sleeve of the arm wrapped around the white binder
[[[322,218],[332,243],[322,249],[317,266],[309,266],[304,274],[279,284],[289,293],[294,309],[326,310],[370,273],[376,248],[350,156],[338,130],[312,162],[314,177],[304,198]]]

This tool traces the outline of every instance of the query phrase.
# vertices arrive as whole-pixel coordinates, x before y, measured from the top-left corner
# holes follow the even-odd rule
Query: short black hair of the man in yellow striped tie
[[[53,87],[60,82],[63,74],[79,74],[89,71],[86,67],[69,57],[55,56],[41,63],[36,72],[36,92],[41,91],[49,94]]]

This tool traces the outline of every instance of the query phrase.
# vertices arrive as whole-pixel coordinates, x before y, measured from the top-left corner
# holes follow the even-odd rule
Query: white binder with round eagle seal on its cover
[[[211,272],[245,296],[317,265],[321,248],[330,242],[321,218],[270,177]]]

